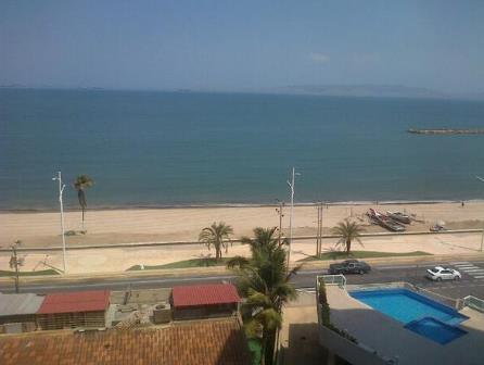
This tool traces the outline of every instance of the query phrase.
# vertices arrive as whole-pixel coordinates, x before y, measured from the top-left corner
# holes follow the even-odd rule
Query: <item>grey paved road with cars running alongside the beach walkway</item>
[[[451,282],[433,282],[424,277],[429,265],[395,265],[395,266],[375,266],[370,274],[366,275],[348,275],[348,284],[378,284],[391,281],[407,281],[437,292],[449,298],[463,298],[466,295],[474,295],[484,298],[484,262],[453,262],[444,263],[449,267],[454,267],[461,272],[462,280]],[[481,274],[483,273],[483,274]],[[302,270],[294,277],[293,282],[296,288],[314,288],[317,275],[326,274],[326,270]],[[207,284],[221,282],[222,280],[233,281],[233,275],[220,276],[198,276],[198,277],[178,277],[178,278],[160,278],[160,277],[143,277],[143,278],[116,278],[86,280],[86,282],[68,284],[55,282],[55,279],[48,284],[36,284],[22,286],[22,292],[47,293],[52,291],[75,291],[75,290],[92,290],[92,289],[111,289],[124,290],[130,285],[132,289],[148,289],[148,288],[169,288],[179,285],[190,284]],[[0,286],[0,291],[12,292],[12,286]]]

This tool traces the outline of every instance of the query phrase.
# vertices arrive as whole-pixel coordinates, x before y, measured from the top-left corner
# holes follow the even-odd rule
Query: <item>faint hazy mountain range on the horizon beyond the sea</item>
[[[265,91],[275,93],[318,95],[329,97],[387,97],[484,100],[484,92],[450,93],[402,85],[295,85],[269,88]]]

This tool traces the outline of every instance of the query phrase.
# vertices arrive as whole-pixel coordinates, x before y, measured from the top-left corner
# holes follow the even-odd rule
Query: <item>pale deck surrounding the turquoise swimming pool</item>
[[[421,337],[365,303],[346,290],[327,286],[331,322],[358,339],[359,343],[387,358],[397,356],[398,364],[482,364],[484,358],[484,314],[463,309],[469,317],[458,327],[468,333],[445,344]]]

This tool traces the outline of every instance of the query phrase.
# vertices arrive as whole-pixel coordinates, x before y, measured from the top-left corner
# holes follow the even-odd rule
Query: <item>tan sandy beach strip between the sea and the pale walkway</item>
[[[481,228],[484,221],[484,202],[395,204],[395,205],[328,205],[323,212],[323,226],[329,231],[344,218],[353,217],[368,225],[367,231],[384,231],[370,226],[365,213],[369,207],[415,214],[418,222],[408,230],[429,230],[437,221],[446,222],[449,229]],[[289,206],[283,209],[282,226],[289,227]],[[151,210],[88,211],[85,227],[87,235],[67,237],[69,246],[110,244],[148,241],[196,241],[200,230],[213,222],[226,222],[233,227],[234,237],[251,235],[254,227],[279,225],[276,206],[237,207],[180,207]],[[315,206],[294,207],[294,235],[316,232]],[[59,213],[0,213],[0,247],[22,240],[24,247],[52,247],[61,244]],[[65,213],[65,230],[80,230],[80,212]]]

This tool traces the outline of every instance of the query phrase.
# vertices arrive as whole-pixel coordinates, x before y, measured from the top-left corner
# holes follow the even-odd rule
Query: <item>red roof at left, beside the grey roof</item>
[[[109,290],[47,294],[37,314],[105,311],[110,305],[110,294]]]

